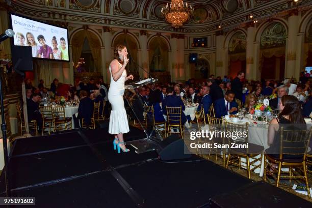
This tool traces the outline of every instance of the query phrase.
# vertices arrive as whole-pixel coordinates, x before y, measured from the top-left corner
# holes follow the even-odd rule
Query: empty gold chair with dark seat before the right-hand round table
[[[224,122],[224,126],[226,132],[245,132],[245,136],[241,136],[241,138],[235,138],[233,136],[228,138],[229,147],[235,145],[235,148],[229,148],[228,150],[226,168],[228,167],[229,163],[232,165],[236,165],[239,168],[246,168],[248,172],[248,179],[250,179],[250,171],[261,167],[264,147],[248,142],[248,123],[233,124]],[[255,158],[258,155],[261,156],[259,158]],[[246,159],[246,165],[243,164],[244,162],[241,161],[242,158]],[[250,159],[252,159],[252,161]],[[259,161],[258,165],[255,164],[257,161]],[[250,166],[252,166],[252,168],[250,168]]]

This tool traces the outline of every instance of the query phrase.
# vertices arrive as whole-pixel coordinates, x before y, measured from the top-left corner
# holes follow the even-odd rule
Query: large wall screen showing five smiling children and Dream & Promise
[[[15,32],[14,45],[31,46],[32,55],[35,58],[69,61],[66,28],[15,14],[10,14],[10,16],[12,29]]]

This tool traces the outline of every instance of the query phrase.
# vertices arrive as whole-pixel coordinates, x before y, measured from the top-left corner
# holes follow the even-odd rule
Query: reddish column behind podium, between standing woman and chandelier
[[[141,44],[141,60],[139,64],[143,67],[146,71],[144,72],[139,67],[139,74],[141,78],[148,78],[149,67],[148,67],[148,52],[147,52],[147,31],[140,31],[140,44]],[[148,73],[147,73],[148,72]]]

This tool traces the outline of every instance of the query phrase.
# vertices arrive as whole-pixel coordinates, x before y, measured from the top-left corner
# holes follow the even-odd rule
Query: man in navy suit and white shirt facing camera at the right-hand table
[[[235,94],[232,91],[226,91],[225,97],[216,100],[215,113],[217,118],[224,115],[236,114],[238,111],[238,104],[233,101]]]

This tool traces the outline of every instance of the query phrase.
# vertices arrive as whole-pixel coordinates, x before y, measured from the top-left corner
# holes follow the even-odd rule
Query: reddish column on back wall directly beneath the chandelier
[[[169,59],[169,67],[171,67],[170,75],[171,81],[176,81],[178,77],[177,34],[171,34],[170,45],[171,45],[171,56]]]

